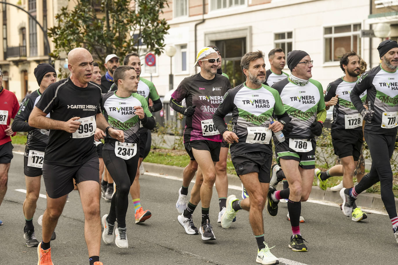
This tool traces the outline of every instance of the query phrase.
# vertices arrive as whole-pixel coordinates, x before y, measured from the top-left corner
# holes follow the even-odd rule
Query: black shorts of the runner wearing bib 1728
[[[334,154],[339,158],[353,156],[358,161],[363,143],[362,130],[336,129],[331,132]]]

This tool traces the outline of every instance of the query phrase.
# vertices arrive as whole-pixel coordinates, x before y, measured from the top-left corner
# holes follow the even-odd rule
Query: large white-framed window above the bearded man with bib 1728
[[[324,62],[339,61],[346,52],[361,52],[361,24],[324,27]]]

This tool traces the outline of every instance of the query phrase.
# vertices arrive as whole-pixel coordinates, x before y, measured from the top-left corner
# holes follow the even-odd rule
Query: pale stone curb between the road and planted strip
[[[162,164],[154,164],[148,162],[142,162],[145,168],[145,171],[158,173],[158,174],[167,174],[171,176],[177,176],[182,178],[182,173],[184,168],[180,168],[178,166],[167,166]],[[228,184],[240,186],[242,182],[236,175],[227,174],[228,176]],[[312,191],[310,194],[310,199],[317,199],[322,201],[330,201],[333,203],[342,203],[340,194],[338,191],[331,191],[330,188],[327,190],[321,190],[318,186],[312,186]],[[361,196],[357,198],[356,201],[358,206],[372,208],[377,210],[385,210],[384,203],[381,199],[380,194],[374,193],[363,193]],[[395,205],[398,209],[398,198],[395,198]]]

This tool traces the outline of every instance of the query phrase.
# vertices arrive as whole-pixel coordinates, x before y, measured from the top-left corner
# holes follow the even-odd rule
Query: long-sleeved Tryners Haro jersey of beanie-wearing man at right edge
[[[359,112],[365,109],[361,94],[367,92],[367,105],[375,111],[364,131],[395,135],[398,128],[398,72],[386,72],[381,64],[359,77],[350,97]]]

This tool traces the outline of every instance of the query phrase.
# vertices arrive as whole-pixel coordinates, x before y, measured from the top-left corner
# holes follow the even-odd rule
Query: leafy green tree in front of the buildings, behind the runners
[[[107,54],[123,58],[144,45],[155,54],[165,46],[164,35],[170,28],[159,14],[167,0],[74,0],[73,10],[63,7],[55,15],[57,23],[49,29],[58,59],[76,47],[88,49],[95,60],[104,63]]]

